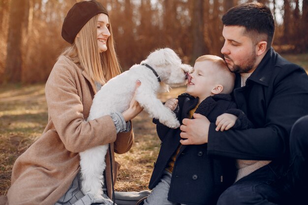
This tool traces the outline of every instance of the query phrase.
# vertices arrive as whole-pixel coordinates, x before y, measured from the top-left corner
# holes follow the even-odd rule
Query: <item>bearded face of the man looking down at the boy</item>
[[[222,30],[225,42],[221,53],[234,73],[250,73],[257,66],[256,45],[245,31],[242,26],[224,26]]]

